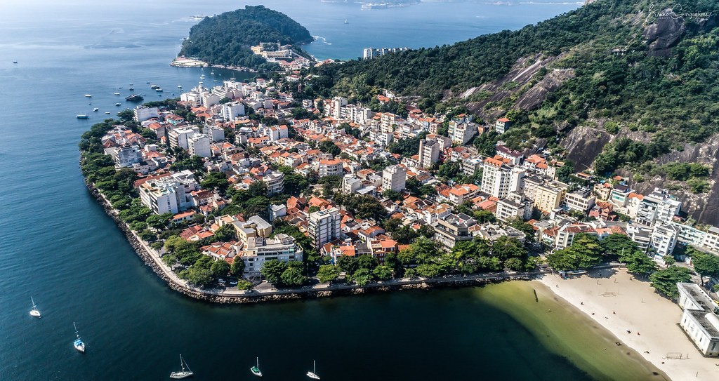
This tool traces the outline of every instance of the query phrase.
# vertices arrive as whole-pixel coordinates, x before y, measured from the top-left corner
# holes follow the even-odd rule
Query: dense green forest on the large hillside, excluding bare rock
[[[682,4],[687,12],[715,7],[710,0],[599,0],[513,32],[373,60],[321,65],[313,69],[321,75],[313,79],[313,89],[324,96],[347,95],[369,102],[377,88],[389,88],[401,95],[422,96],[418,106],[425,111],[444,111],[462,101],[454,96],[501,78],[519,58],[533,63],[536,57],[562,54],[528,84],[552,70],[573,70],[574,78],[550,93],[538,109],[520,110],[517,118],[510,117],[514,127],[503,140],[518,147],[533,137],[554,135],[552,127],[562,127],[566,133],[592,119],[610,119],[604,124],[610,134],[622,130],[649,134],[649,143],[624,138],[610,144],[597,157],[597,173],[605,175],[625,165],[641,165],[677,149],[679,143],[702,142],[718,131],[719,106],[713,101],[719,97],[719,30],[711,29],[715,23],[685,19],[686,30],[666,54],[654,52],[645,42],[643,33],[654,22],[645,22],[650,6],[656,10],[674,4]],[[517,85],[505,83],[503,89]],[[516,94],[487,104],[485,110],[514,112],[510,110]],[[478,95],[464,102],[490,94]],[[694,183],[694,191],[706,188],[697,180]]]

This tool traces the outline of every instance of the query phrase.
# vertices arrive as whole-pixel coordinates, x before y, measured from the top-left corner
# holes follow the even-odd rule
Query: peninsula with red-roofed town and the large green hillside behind
[[[706,102],[719,91],[710,60],[719,35],[714,19],[632,23],[646,5],[599,0],[451,47],[199,84],[93,125],[80,143],[83,175],[155,270],[194,297],[242,302],[547,272],[543,282],[557,277],[560,288],[618,271],[661,308],[684,300],[684,316],[709,327],[701,336],[684,321],[686,342],[715,357],[717,310],[703,301],[716,298],[719,228],[695,206],[714,185],[716,160],[681,152],[717,138]],[[676,39],[661,45],[667,33]],[[283,47],[270,45],[251,51],[267,59]],[[646,74],[669,70],[667,60],[682,81]],[[687,87],[696,75],[713,88]],[[696,119],[682,121],[677,96]],[[559,295],[577,301],[577,292]],[[669,373],[655,347],[664,348],[645,358]]]

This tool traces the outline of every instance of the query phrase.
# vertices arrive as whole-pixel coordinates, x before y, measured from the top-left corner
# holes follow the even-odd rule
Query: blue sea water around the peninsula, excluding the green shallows
[[[464,1],[361,11],[359,4],[319,0],[265,4],[326,39],[307,47],[318,58],[352,58],[368,46],[466,40],[577,6]],[[216,306],[169,290],[142,265],[88,195],[78,138],[91,124],[132,106],[124,101],[130,83],[133,93],[150,101],[172,96],[178,85],[196,86],[202,73],[206,84],[242,78],[168,65],[194,23],[191,15],[241,5],[4,1],[0,380],[160,380],[178,370],[179,354],[196,380],[250,380],[257,356],[269,380],[302,380],[313,360],[323,380],[598,377],[567,359],[573,349],[547,346],[511,311],[480,297],[506,298],[485,294],[495,286]],[[165,92],[157,96],[151,84]],[[40,320],[28,315],[31,295]],[[87,345],[84,355],[72,346],[73,321]]]

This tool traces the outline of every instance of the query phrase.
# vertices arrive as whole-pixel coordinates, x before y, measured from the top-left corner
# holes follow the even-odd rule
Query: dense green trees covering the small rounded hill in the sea
[[[311,42],[305,27],[286,14],[265,6],[245,6],[234,12],[206,17],[190,29],[190,38],[183,42],[180,55],[196,57],[207,63],[244,66],[257,70],[278,67],[252,53],[249,47],[260,42],[300,45]],[[300,54],[303,50],[295,47]]]

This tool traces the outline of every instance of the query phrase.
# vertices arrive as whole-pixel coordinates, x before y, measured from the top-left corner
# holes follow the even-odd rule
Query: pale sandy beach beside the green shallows
[[[719,379],[719,359],[702,357],[677,325],[681,308],[655,293],[649,280],[634,279],[624,269],[601,269],[567,280],[545,275],[539,282],[672,380]]]

